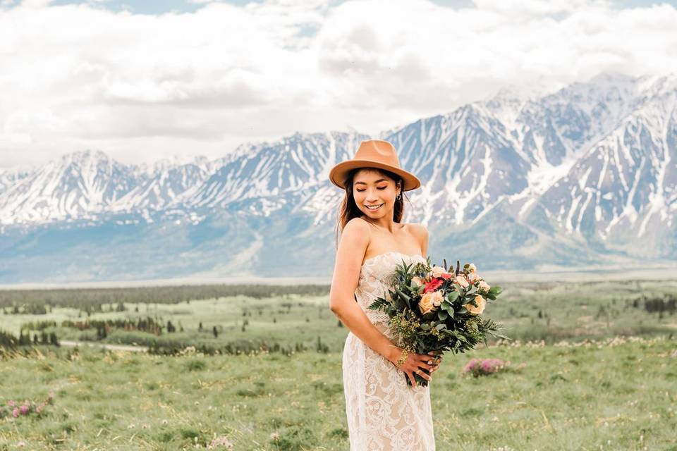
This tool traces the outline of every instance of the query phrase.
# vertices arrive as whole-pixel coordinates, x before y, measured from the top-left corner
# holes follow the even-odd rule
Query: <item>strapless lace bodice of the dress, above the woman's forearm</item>
[[[389,299],[388,290],[393,283],[395,268],[403,260],[408,264],[426,261],[418,254],[408,255],[390,251],[365,260],[362,268],[360,268],[360,278],[358,287],[355,289],[355,297],[362,310],[367,314],[367,318],[374,324],[388,323],[388,315],[383,311],[370,310],[367,307],[379,297]]]

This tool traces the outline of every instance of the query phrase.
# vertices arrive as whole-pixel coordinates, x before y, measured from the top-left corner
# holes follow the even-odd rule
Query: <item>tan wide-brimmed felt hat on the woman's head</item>
[[[339,188],[344,188],[346,175],[355,168],[379,168],[401,175],[403,191],[415,190],[421,186],[421,181],[400,166],[397,152],[393,144],[382,140],[367,140],[360,142],[358,152],[351,160],[341,161],[329,171],[329,180]]]

